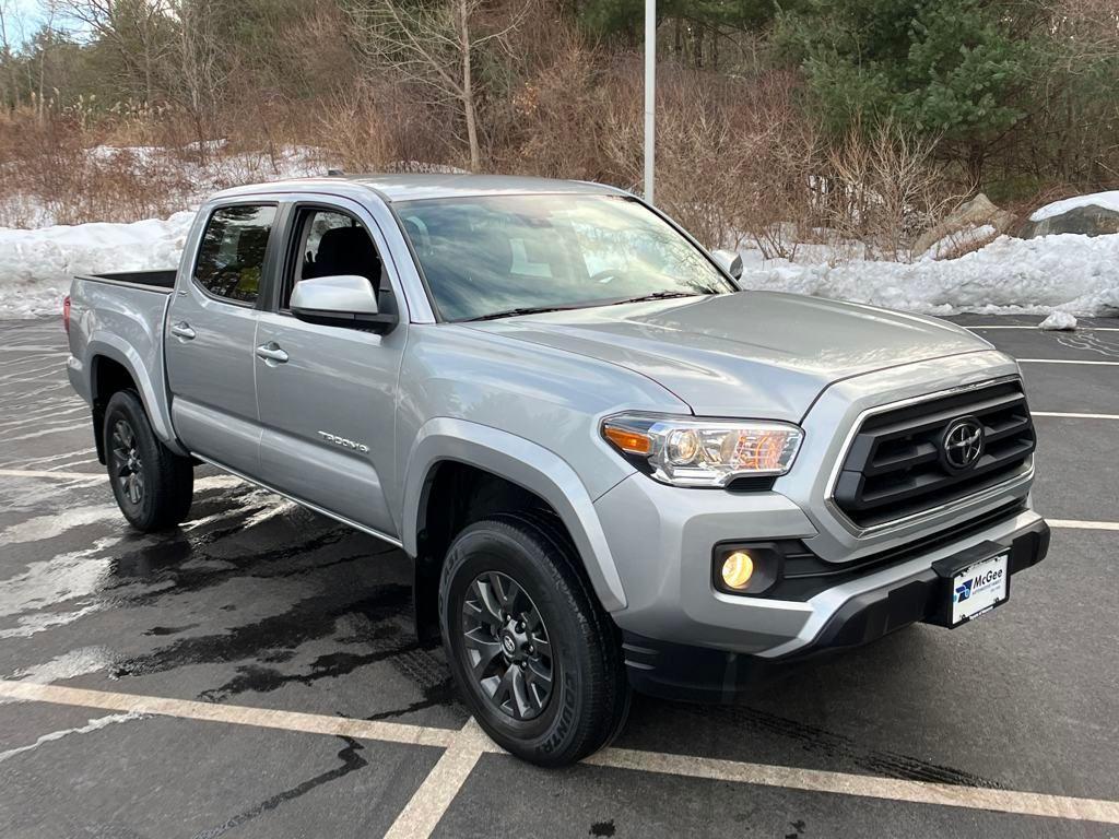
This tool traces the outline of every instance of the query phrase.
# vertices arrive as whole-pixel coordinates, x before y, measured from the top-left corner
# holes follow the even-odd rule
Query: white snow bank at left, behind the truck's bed
[[[0,228],[0,318],[62,312],[74,274],[172,268],[195,214],[166,221]]]

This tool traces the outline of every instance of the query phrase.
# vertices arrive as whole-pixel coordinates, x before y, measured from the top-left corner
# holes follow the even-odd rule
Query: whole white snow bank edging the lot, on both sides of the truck
[[[56,315],[70,277],[178,264],[194,214],[134,224],[0,228],[0,318]],[[958,260],[806,265],[743,251],[746,287],[815,294],[928,314],[1109,314],[1119,310],[1119,235],[1002,236]]]

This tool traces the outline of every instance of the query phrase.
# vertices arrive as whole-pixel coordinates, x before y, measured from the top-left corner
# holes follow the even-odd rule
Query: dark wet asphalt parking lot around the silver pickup
[[[1119,837],[1119,320],[1022,360],[1046,562],[1004,609],[735,707],[638,697],[592,761],[500,754],[399,552],[214,470],[131,532],[55,321],[0,323],[0,836]]]

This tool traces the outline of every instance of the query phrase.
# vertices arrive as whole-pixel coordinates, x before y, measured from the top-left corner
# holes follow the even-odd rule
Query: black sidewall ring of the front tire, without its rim
[[[468,704],[490,737],[527,760],[547,761],[570,747],[579,732],[585,713],[586,652],[581,649],[584,639],[575,615],[556,596],[562,578],[547,567],[538,546],[510,531],[481,522],[467,528],[451,546],[440,586],[443,644],[460,689],[469,695]],[[547,708],[535,719],[516,720],[495,707],[466,664],[462,604],[470,584],[490,571],[508,575],[525,590],[548,632],[553,689]]]

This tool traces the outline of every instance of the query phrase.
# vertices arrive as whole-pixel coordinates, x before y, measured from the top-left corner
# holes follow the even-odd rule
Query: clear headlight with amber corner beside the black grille
[[[788,423],[618,414],[602,436],[677,487],[725,487],[735,478],[789,471],[805,433]]]

